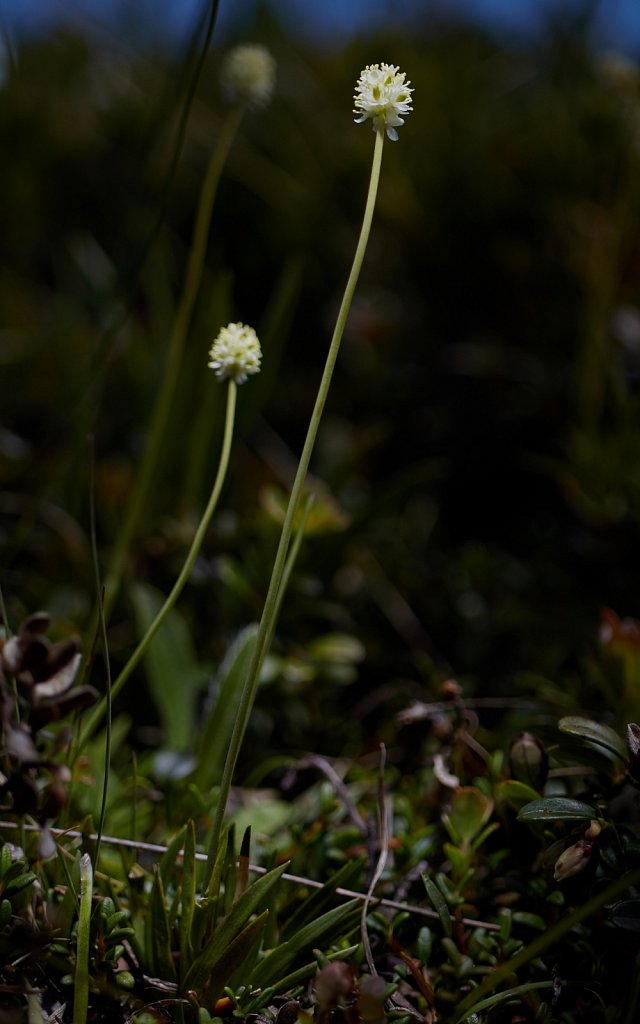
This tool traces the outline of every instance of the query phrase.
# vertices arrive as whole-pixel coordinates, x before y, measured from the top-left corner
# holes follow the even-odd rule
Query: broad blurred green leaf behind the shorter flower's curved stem
[[[138,633],[142,637],[165,603],[153,587],[136,584],[131,590]],[[198,697],[209,679],[209,669],[198,663],[184,618],[173,608],[144,655],[148,687],[173,750],[193,746]]]

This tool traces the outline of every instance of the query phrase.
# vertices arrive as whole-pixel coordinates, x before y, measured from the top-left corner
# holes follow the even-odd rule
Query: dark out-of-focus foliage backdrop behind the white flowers
[[[163,464],[110,624],[115,667],[209,493],[222,399],[205,361],[221,324],[258,329],[264,371],[241,392],[222,505],[173,623],[183,717],[154,697],[152,664],[118,711],[136,742],[183,746],[259,613],[358,229],[373,135],[351,96],[375,60],[407,71],[415,113],[386,146],[246,767],[375,748],[390,710],[454,673],[478,695],[562,681],[589,708],[601,608],[638,614],[637,69],[598,52],[588,12],[512,46],[425,22],[319,50],[266,9],[238,35],[271,49],[279,87],[245,118],[220,184]],[[191,52],[60,31],[8,55],[0,545],[13,626],[37,607],[63,635],[91,622],[87,437],[106,570],[225,115],[222,52],[214,36],[173,178]]]

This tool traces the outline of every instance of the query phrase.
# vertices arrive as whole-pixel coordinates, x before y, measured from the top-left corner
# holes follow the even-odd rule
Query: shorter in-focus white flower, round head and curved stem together
[[[115,680],[111,689],[112,701],[118,696],[121,689],[131,676],[131,673],[144,656],[146,650],[148,649],[148,645],[173,608],[191,573],[191,569],[194,568],[196,559],[198,558],[203,541],[209,528],[211,518],[216,505],[218,504],[218,499],[220,497],[220,492],[222,490],[222,484],[224,483],[224,478],[228,468],[231,438],[233,435],[233,423],[236,419],[238,385],[244,383],[250,375],[258,373],[260,370],[261,354],[260,342],[258,341],[256,332],[253,328],[247,327],[245,324],[228,324],[226,327],[223,327],[211,346],[211,350],[209,352],[209,367],[215,371],[216,377],[219,381],[227,382],[224,434],[222,438],[222,449],[220,452],[218,471],[216,473],[207,507],[194,536],[191,546],[180,570],[180,574],[174,583],[171,593],[167,597],[162,608],[146,630],[146,633],[131,654],[124,669]],[[103,699],[89,716],[89,720],[80,737],[80,746],[82,746],[93,734],[105,711],[106,700]]]

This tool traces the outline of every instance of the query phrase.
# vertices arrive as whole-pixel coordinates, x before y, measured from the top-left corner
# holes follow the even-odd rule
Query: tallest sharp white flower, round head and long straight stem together
[[[253,708],[255,701],[262,664],[266,656],[271,637],[273,636],[273,631],[275,629],[276,616],[283,598],[285,573],[287,569],[287,556],[293,536],[294,521],[302,498],[309,462],[315,444],[315,438],[317,437],[317,431],[323,411],[325,409],[325,402],[327,401],[327,395],[329,394],[331,379],[336,365],[336,359],[338,357],[342,336],[344,334],[344,328],[351,308],[355,286],[357,284],[362,261],[365,259],[365,253],[367,251],[367,243],[369,241],[374,208],[376,205],[376,197],[378,194],[385,134],[391,139],[397,138],[395,128],[398,125],[403,124],[403,120],[400,115],[407,114],[411,111],[412,91],[413,90],[404,82],[404,75],[398,74],[397,68],[393,65],[382,65],[381,67],[373,65],[372,67],[366,68],[356,85],[356,113],[360,114],[357,121],[361,122],[368,118],[372,118],[374,123],[373,127],[376,132],[373,164],[369,181],[367,203],[365,206],[365,215],[362,218],[362,226],[360,228],[353,263],[351,265],[351,271],[349,273],[342,302],[340,304],[340,309],[338,311],[333,337],[329,346],[329,352],[327,354],[323,377],[319,383],[317,396],[315,398],[315,404],[309,421],[306,439],[302,449],[302,455],[300,456],[300,462],[298,464],[298,469],[291,490],[289,505],[285,515],[285,522],[283,524],[280,543],[273,562],[273,568],[271,570],[271,579],[269,581],[264,608],[258,628],[258,635],[248,669],[247,678],[245,679],[243,685],[238,715],[229,740],[229,746],[222,773],[222,780],[220,782],[218,802],[216,805],[215,816],[209,840],[209,852],[204,877],[205,886],[208,885],[213,872],[218,846],[222,837],[224,814],[236,770],[236,764],[238,762],[247,724],[249,722],[251,709]]]

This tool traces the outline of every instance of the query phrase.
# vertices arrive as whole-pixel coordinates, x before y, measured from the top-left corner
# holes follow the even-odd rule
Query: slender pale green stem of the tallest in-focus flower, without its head
[[[342,335],[344,333],[344,328],[349,314],[349,309],[351,307],[353,294],[355,292],[355,286],[357,284],[357,279],[359,276],[360,269],[362,266],[362,261],[365,258],[365,252],[367,250],[367,243],[369,241],[369,234],[371,231],[371,224],[374,215],[374,207],[376,205],[378,182],[380,180],[380,168],[382,165],[383,145],[384,145],[384,132],[378,131],[376,132],[376,144],[374,148],[374,158],[371,170],[371,178],[369,182],[369,193],[367,196],[367,205],[365,207],[365,216],[362,218],[362,226],[360,229],[360,234],[355,250],[355,256],[353,257],[351,272],[349,273],[346,288],[344,290],[344,295],[342,297],[342,302],[340,304],[340,309],[338,312],[338,317],[336,321],[333,338],[331,340],[329,353],[327,355],[327,361],[325,364],[323,378],[321,380],[317,396],[315,398],[315,406],[313,407],[313,412],[311,414],[311,419],[309,421],[309,426],[307,429],[306,439],[304,442],[304,446],[302,449],[302,455],[300,456],[300,462],[298,464],[298,470],[296,472],[296,477],[291,490],[291,497],[289,499],[287,514],[285,516],[285,522],[283,524],[280,544],[275,554],[273,568],[271,570],[271,579],[269,582],[269,587],[264,602],[262,617],[260,620],[256,645],[254,648],[251,664],[249,666],[247,678],[244,683],[243,692],[238,709],[238,717],[234,722],[233,731],[231,733],[229,746],[226,754],[224,770],[222,773],[222,780],[220,782],[220,793],[218,795],[218,803],[216,806],[215,817],[211,831],[211,845],[209,848],[209,859],[207,861],[205,884],[209,881],[211,871],[213,869],[213,864],[215,862],[216,850],[220,841],[220,836],[222,834],[222,823],[224,820],[224,813],[226,810],[228,795],[231,787],[231,780],[233,777],[233,772],[236,770],[236,764],[238,762],[238,756],[240,754],[240,749],[242,746],[242,742],[247,729],[247,723],[249,721],[251,709],[253,708],[253,703],[255,700],[262,663],[267,652],[269,639],[273,634],[273,629],[275,626],[275,617],[278,613],[278,605],[280,600],[282,599],[281,588],[283,583],[283,573],[287,561],[287,552],[289,550],[289,545],[291,542],[295,516],[298,511],[298,506],[300,504],[302,488],[304,486],[304,481],[306,479],[306,475],[308,472],[309,462],[311,459],[311,454],[313,452],[313,446],[315,444],[315,438],[317,436],[317,430],[319,427],[323,410],[325,408],[325,402],[327,401],[327,395],[329,393],[331,378],[333,375],[334,367],[336,365],[336,359],[338,357],[338,351],[340,349],[340,342],[342,341]]]

